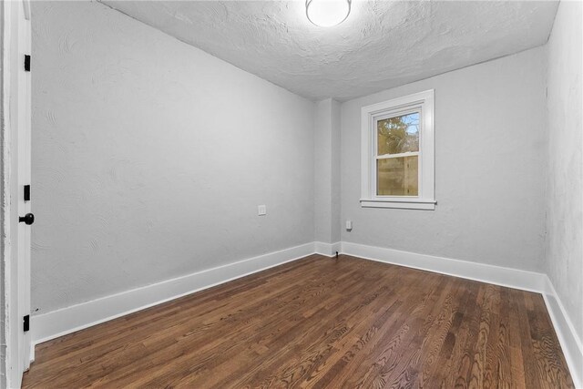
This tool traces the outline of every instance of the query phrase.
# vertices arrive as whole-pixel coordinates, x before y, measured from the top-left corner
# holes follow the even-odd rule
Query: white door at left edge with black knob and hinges
[[[6,271],[6,384],[19,387],[22,374],[31,361],[30,332],[24,318],[30,314],[30,233],[31,201],[25,199],[30,185],[31,72],[25,69],[30,55],[31,26],[28,0],[4,1],[2,87],[5,145],[3,195],[9,207],[3,213],[5,236],[2,237]],[[31,69],[32,70],[32,69]]]

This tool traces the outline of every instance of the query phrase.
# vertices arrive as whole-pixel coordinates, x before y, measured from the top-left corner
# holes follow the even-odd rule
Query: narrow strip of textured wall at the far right
[[[547,274],[583,339],[581,2],[561,2],[547,44]]]

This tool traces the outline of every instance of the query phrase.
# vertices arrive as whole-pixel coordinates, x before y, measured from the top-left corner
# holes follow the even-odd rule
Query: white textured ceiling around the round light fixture
[[[353,1],[313,26],[303,1],[102,0],[304,97],[346,100],[547,42],[557,2]]]

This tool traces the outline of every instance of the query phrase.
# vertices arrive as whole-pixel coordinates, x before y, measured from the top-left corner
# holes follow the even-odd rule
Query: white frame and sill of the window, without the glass
[[[435,90],[394,98],[362,108],[361,133],[361,206],[367,208],[401,208],[435,210]],[[408,113],[419,112],[419,152],[399,154],[400,157],[419,155],[419,192],[417,196],[377,195],[377,122]],[[391,156],[392,158],[397,155]],[[383,157],[381,157],[383,159]]]

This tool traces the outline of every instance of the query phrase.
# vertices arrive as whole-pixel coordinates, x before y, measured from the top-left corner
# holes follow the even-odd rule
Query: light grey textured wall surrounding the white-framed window
[[[545,51],[535,48],[342,107],[343,241],[543,270]],[[363,209],[361,107],[435,88],[435,210]]]

